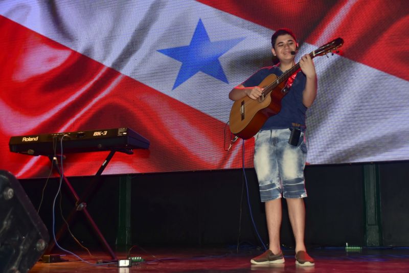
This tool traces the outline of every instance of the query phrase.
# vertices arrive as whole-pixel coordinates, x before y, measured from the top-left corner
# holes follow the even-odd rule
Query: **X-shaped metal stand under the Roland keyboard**
[[[102,235],[101,231],[99,230],[99,228],[98,228],[97,224],[95,223],[94,219],[89,214],[89,212],[88,212],[88,210],[86,208],[86,202],[85,201],[89,197],[89,195],[92,194],[93,191],[95,190],[96,186],[98,185],[98,183],[99,183],[99,181],[101,179],[102,172],[104,171],[104,169],[106,168],[106,166],[108,165],[109,161],[111,160],[112,156],[115,154],[116,151],[125,152],[127,154],[133,154],[132,150],[124,150],[124,149],[111,150],[109,152],[108,156],[106,157],[105,161],[102,163],[101,167],[98,169],[97,173],[92,178],[91,182],[88,184],[88,187],[84,190],[84,193],[81,196],[78,196],[77,192],[74,190],[74,188],[71,185],[68,178],[64,174],[61,174],[61,170],[60,170],[60,168],[58,166],[57,158],[55,158],[54,156],[51,156],[51,155],[49,156],[49,159],[53,164],[53,169],[58,172],[60,177],[62,176],[62,179],[63,179],[65,185],[68,187],[68,189],[70,190],[72,196],[75,199],[75,207],[71,210],[69,216],[66,218],[66,222],[70,223],[77,212],[79,212],[79,211],[83,212],[85,218],[88,220],[88,222],[91,225],[92,229],[94,230],[95,234],[98,236],[99,240],[101,241],[101,243],[105,247],[106,251],[111,256],[113,261],[117,261],[118,258],[115,255],[115,253],[112,251],[112,249],[109,246],[109,244],[107,243],[107,241],[105,240],[104,236]],[[64,222],[62,224],[62,226],[60,227],[58,233],[56,234],[55,239],[58,241],[61,238],[61,236],[66,232],[66,230],[67,230],[67,224]],[[45,253],[50,254],[52,249],[54,248],[54,246],[55,246],[55,241],[51,240],[51,242],[50,242],[50,244],[49,244],[49,246],[47,248],[47,251]]]

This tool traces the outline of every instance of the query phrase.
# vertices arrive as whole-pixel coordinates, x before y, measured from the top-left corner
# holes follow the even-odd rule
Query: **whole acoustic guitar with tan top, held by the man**
[[[336,51],[343,43],[342,38],[336,38],[312,51],[309,55],[311,58],[326,55],[329,52]],[[275,74],[268,75],[258,85],[264,89],[257,100],[245,96],[235,101],[230,110],[230,131],[244,140],[252,138],[269,117],[280,112],[281,100],[290,92],[290,89],[286,87],[287,79],[299,69],[300,63],[297,63],[278,78]]]

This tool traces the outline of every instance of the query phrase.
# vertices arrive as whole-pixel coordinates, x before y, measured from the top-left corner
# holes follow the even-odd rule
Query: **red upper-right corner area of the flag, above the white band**
[[[198,0],[258,25],[277,30],[290,28],[299,41],[316,44],[317,38],[336,18],[347,1],[211,1]],[[396,0],[357,1],[333,30],[342,37],[342,55],[377,70],[409,80],[408,2]],[[331,40],[330,38],[329,40]]]

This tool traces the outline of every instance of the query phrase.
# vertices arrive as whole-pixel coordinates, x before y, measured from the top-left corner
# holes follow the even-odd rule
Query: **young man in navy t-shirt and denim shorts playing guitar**
[[[263,88],[258,85],[270,74],[281,76],[294,64],[298,43],[288,29],[280,29],[271,37],[271,52],[279,60],[275,66],[263,67],[242,84],[233,88],[229,98],[233,101],[245,96],[256,100]],[[286,198],[288,215],[296,240],[296,264],[314,265],[304,244],[306,191],[304,166],[307,149],[304,141],[305,112],[316,97],[315,66],[307,54],[300,59],[301,71],[293,79],[288,94],[281,100],[277,115],[267,119],[255,135],[254,167],[259,180],[261,201],[265,202],[269,249],[251,260],[253,264],[284,263],[280,247],[282,218],[281,197]],[[288,143],[291,131],[301,129],[298,145]]]

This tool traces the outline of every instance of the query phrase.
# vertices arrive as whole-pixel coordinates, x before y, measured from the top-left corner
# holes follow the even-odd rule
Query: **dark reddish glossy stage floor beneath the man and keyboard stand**
[[[95,265],[98,259],[109,259],[103,252],[76,252],[94,265],[79,261],[72,255],[63,256],[65,262],[37,262],[30,272],[409,272],[409,247],[364,248],[361,252],[346,252],[343,248],[308,249],[315,259],[314,266],[296,266],[292,250],[284,250],[285,263],[281,265],[252,265],[250,259],[261,251],[227,248],[149,248],[134,247],[131,256],[140,256],[145,262],[132,267],[117,264]],[[117,253],[125,259],[126,252]]]

